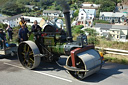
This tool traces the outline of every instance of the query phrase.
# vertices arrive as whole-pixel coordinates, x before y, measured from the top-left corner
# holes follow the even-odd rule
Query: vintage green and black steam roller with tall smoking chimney
[[[46,25],[42,32],[33,32],[28,41],[18,46],[18,58],[23,67],[34,69],[40,62],[56,62],[61,55],[67,55],[66,64],[60,65],[74,78],[82,80],[99,71],[103,64],[103,56],[88,45],[87,36],[80,34],[76,41],[72,40],[70,12],[63,10],[66,32],[53,25]]]

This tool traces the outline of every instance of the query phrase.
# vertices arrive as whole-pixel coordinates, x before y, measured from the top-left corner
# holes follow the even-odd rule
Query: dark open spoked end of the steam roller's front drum
[[[69,57],[66,61],[66,65],[67,66],[72,66],[72,61],[71,61],[71,57]],[[83,70],[86,70],[85,69],[85,65],[84,63],[82,62],[82,60],[80,58],[77,57],[76,59],[76,68],[79,68],[79,69],[83,69]],[[71,70],[68,70],[69,74],[71,74],[74,78],[76,79],[79,79],[79,80],[82,80],[85,78],[85,74],[86,74],[86,71],[71,71]]]

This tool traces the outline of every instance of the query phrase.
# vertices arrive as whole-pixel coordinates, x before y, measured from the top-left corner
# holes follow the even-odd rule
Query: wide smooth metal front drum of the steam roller
[[[67,69],[69,74],[79,80],[82,80],[89,75],[96,73],[102,67],[101,57],[99,53],[94,49],[90,49],[77,54],[75,60],[76,67],[72,66],[71,56],[67,59],[66,65],[69,67],[80,69],[79,71]]]

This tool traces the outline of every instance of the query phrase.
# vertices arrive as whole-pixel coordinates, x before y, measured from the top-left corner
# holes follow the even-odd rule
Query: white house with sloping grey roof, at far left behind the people
[[[22,14],[15,15],[15,16],[12,16],[12,17],[7,17],[7,18],[3,19],[1,22],[3,24],[8,24],[11,27],[15,27],[15,26],[19,25],[21,16],[22,16]]]

